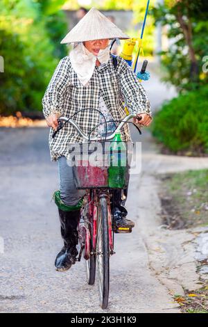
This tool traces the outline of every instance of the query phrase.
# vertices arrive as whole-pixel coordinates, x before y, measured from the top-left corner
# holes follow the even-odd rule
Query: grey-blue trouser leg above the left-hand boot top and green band
[[[58,158],[58,175],[60,198],[64,205],[77,205],[85,195],[85,190],[77,190],[73,181],[73,168],[67,164],[65,157]]]

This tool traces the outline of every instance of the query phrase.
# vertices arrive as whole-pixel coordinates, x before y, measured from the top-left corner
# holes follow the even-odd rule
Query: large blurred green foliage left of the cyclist
[[[67,54],[67,47],[60,46],[67,30],[64,15],[54,12],[58,1],[48,1],[51,7],[46,7],[47,1],[2,1],[0,114],[42,110],[46,86],[59,59]]]

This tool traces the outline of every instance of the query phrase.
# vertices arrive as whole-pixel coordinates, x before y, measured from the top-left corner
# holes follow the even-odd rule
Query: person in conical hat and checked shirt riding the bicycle
[[[67,165],[69,143],[83,143],[83,139],[70,124],[52,138],[58,127],[58,118],[61,115],[70,117],[79,109],[90,108],[101,111],[106,120],[120,121],[125,117],[123,98],[130,113],[141,116],[141,120],[135,118],[135,123],[148,126],[151,122],[150,103],[135,73],[119,56],[116,57],[116,67],[114,65],[110,54],[110,40],[114,38],[129,37],[98,10],[89,10],[62,40],[61,43],[72,43],[73,49],[58,64],[42,99],[44,116],[51,127],[51,160],[58,161],[60,178],[60,191],[54,193],[64,240],[64,246],[55,259],[58,271],[67,270],[76,262],[77,226],[84,195],[84,191],[76,189],[72,167]],[[86,110],[76,115],[76,122],[85,134],[89,134],[92,127],[102,120],[103,116],[98,111],[92,114]],[[103,135],[105,131],[101,126],[98,133]],[[115,123],[108,122],[107,132],[111,134],[114,129]],[[130,141],[128,124],[121,129],[121,136],[123,141]],[[125,219],[127,211],[121,206],[119,193],[113,214],[118,225],[134,225]]]

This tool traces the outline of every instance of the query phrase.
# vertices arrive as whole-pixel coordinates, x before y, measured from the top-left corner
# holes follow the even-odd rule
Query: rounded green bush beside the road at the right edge
[[[172,99],[157,112],[153,135],[173,152],[208,153],[208,86]]]

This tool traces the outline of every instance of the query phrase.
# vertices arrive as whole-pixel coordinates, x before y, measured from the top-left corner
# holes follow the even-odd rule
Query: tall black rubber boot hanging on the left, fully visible
[[[78,255],[76,245],[78,244],[77,227],[80,210],[64,212],[58,209],[58,212],[64,246],[55,259],[55,267],[58,271],[66,271],[71,268],[72,264],[76,263],[76,256]]]

